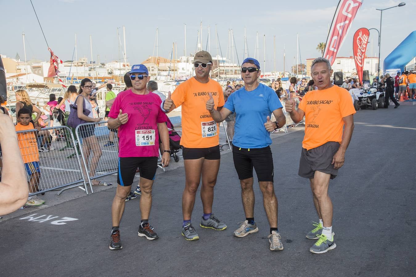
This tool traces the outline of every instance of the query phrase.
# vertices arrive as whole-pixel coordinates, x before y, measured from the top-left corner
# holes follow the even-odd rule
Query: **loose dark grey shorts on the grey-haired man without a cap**
[[[334,169],[332,158],[337,153],[339,142],[329,141],[324,145],[306,150],[302,148],[299,161],[298,175],[304,178],[312,179],[315,171],[331,174],[334,179],[338,174],[338,169]]]

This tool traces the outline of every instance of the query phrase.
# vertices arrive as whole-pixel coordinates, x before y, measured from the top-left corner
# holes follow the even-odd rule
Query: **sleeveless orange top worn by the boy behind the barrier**
[[[16,132],[35,129],[31,122],[27,126],[17,123],[15,128]],[[19,141],[20,154],[22,154],[23,162],[25,164],[28,162],[39,162],[39,151],[37,150],[35,133],[19,133],[17,134],[17,140]]]

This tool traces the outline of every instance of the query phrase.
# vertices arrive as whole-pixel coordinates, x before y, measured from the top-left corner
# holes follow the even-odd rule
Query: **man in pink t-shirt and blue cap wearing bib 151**
[[[140,211],[139,236],[148,240],[159,238],[149,224],[152,204],[152,186],[155,179],[159,156],[159,135],[163,149],[169,149],[169,134],[166,114],[160,108],[160,97],[146,89],[149,71],[143,64],[135,64],[129,73],[132,88],[120,92],[109,113],[108,127],[119,128],[119,170],[117,191],[111,207],[113,228],[109,248],[123,248],[120,241],[119,224],[124,212],[126,197],[130,193],[136,169],[140,169]],[[169,164],[170,151],[164,150],[162,164]]]

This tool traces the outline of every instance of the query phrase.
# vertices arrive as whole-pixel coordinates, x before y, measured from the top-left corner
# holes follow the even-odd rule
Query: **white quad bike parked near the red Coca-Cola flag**
[[[370,88],[369,83],[364,83],[363,88],[356,93],[356,99],[354,100],[355,110],[372,108],[384,108],[386,105],[384,100],[384,92],[377,91],[376,88]],[[358,99],[357,99],[358,98]]]

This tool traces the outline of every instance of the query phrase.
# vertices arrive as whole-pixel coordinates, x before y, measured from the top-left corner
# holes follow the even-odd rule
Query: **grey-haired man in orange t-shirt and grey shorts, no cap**
[[[299,163],[299,175],[310,180],[319,223],[306,238],[317,239],[312,253],[325,253],[337,245],[332,233],[332,201],[328,195],[329,180],[342,167],[345,151],[354,130],[354,105],[344,88],[332,85],[333,70],[325,58],[317,58],[311,66],[318,90],[308,92],[296,110],[295,102],[286,101],[286,111],[297,123],[305,115],[305,137]],[[344,127],[344,130],[342,130]]]

